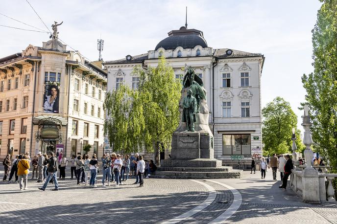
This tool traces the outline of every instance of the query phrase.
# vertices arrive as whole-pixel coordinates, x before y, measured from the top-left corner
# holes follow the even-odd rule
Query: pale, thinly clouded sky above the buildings
[[[39,17],[35,14],[35,9]],[[97,39],[104,40],[105,61],[154,50],[168,32],[185,25],[203,31],[208,46],[262,53],[262,106],[276,96],[298,110],[306,94],[301,76],[313,72],[312,33],[318,0],[1,0],[0,25],[42,30],[54,21],[59,39],[91,61],[98,59]],[[40,30],[39,30],[40,31]],[[42,46],[48,33],[0,26],[0,58]]]

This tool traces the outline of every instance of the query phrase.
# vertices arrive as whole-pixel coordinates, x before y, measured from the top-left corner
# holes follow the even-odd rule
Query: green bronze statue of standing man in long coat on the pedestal
[[[186,122],[186,131],[194,132],[194,122],[196,122],[196,99],[192,96],[192,90],[187,91],[187,96],[183,103],[182,121]]]

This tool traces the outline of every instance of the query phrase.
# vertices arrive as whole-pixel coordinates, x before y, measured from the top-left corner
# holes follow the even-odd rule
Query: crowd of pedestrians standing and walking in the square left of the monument
[[[97,159],[96,154],[91,155],[72,155],[69,159],[62,153],[55,156],[54,153],[49,155],[38,152],[33,159],[29,157],[29,153],[18,155],[11,160],[8,154],[3,160],[4,177],[3,181],[7,183],[20,183],[20,190],[27,189],[28,174],[31,173],[31,179],[36,177],[37,182],[43,183],[40,190],[45,190],[49,182],[54,183],[53,191],[59,189],[58,179],[66,179],[66,168],[70,165],[71,179],[75,178],[77,184],[89,184],[90,187],[97,187],[97,174],[102,172],[101,186],[118,187],[123,184],[129,177],[135,177],[134,184],[139,187],[144,186],[144,178],[149,178],[157,169],[153,160],[144,160],[142,155],[131,154],[122,156],[116,153],[105,153],[101,159]],[[8,176],[9,175],[9,176]],[[12,178],[15,177],[15,181]]]

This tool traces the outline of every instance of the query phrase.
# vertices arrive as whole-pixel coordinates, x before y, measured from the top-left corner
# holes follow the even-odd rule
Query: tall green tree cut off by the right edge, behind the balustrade
[[[337,171],[337,0],[323,2],[313,33],[314,72],[302,76],[315,151]]]

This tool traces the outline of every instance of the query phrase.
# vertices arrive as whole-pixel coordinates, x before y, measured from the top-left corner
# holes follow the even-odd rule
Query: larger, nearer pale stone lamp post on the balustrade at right
[[[302,126],[304,128],[304,137],[303,144],[306,146],[304,150],[304,157],[306,159],[307,167],[304,169],[304,172],[313,172],[317,173],[317,171],[312,167],[311,161],[313,160],[313,150],[310,146],[313,144],[313,139],[310,133],[310,126],[312,125],[309,116],[309,106],[304,105],[304,116]]]

